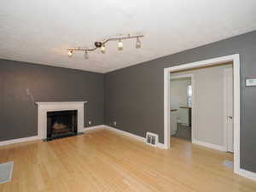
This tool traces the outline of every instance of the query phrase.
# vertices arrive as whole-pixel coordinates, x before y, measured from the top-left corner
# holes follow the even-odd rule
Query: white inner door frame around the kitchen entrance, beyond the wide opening
[[[195,141],[195,113],[193,113],[193,112],[195,112],[195,108],[196,108],[196,106],[195,106],[195,89],[194,89],[194,87],[195,87],[195,77],[194,77],[194,74],[182,74],[182,75],[174,75],[174,76],[170,76],[170,81],[172,80],[172,79],[182,79],[182,78],[191,78],[191,85],[192,85],[192,101],[191,101],[191,113],[192,113],[192,117],[191,117],[191,143],[194,143],[194,141]],[[170,86],[171,86],[171,84],[170,84]],[[170,102],[170,104],[171,104],[171,102]],[[171,109],[170,109],[171,110]],[[170,124],[170,126],[171,126],[171,124]],[[171,127],[170,127],[170,129],[171,129]],[[171,133],[171,131],[170,131],[170,133]],[[171,135],[171,134],[170,134]]]

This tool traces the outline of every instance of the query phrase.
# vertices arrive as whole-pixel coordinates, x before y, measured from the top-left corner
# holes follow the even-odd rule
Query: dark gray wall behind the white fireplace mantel
[[[26,89],[35,102],[87,101],[84,126],[102,125],[103,86],[102,73],[0,60],[0,141],[37,135],[38,107]]]

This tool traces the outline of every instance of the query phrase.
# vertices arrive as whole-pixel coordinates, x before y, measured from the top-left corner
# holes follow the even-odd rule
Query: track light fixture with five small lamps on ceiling
[[[100,48],[102,53],[105,53],[106,52],[106,46],[105,45],[108,43],[108,41],[119,41],[118,42],[118,49],[122,50],[124,48],[122,40],[123,39],[130,39],[130,38],[137,38],[136,48],[137,49],[141,48],[142,43],[141,43],[139,38],[143,38],[143,35],[131,36],[130,34],[128,34],[127,36],[121,36],[121,37],[116,37],[116,38],[107,38],[106,40],[104,40],[102,42],[97,41],[97,42],[94,43],[95,48],[91,48],[91,49],[82,49],[80,47],[79,48],[68,48],[67,49],[67,55],[68,55],[68,57],[72,57],[73,56],[73,51],[84,51],[84,58],[89,59],[89,54],[88,54],[89,51],[94,51],[94,50]]]

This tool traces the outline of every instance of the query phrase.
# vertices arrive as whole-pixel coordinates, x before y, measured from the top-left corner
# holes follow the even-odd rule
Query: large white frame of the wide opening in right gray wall
[[[177,64],[164,69],[164,148],[171,147],[170,137],[170,73],[177,70],[205,67],[224,62],[233,62],[233,94],[234,94],[234,172],[240,174],[240,55],[227,55],[204,61]]]

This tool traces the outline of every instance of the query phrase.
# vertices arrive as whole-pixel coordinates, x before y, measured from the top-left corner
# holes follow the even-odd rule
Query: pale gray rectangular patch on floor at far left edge
[[[0,184],[9,182],[12,178],[14,161],[0,164]]]

